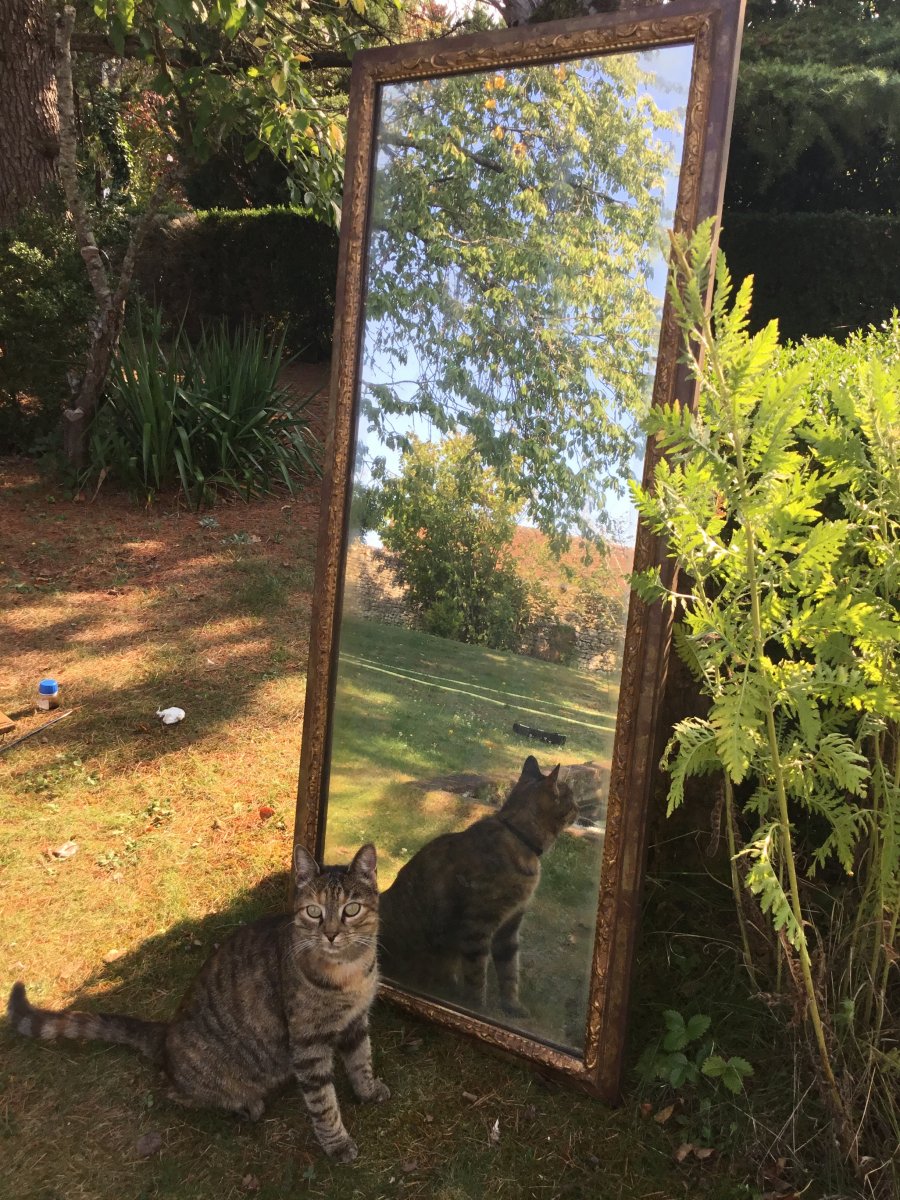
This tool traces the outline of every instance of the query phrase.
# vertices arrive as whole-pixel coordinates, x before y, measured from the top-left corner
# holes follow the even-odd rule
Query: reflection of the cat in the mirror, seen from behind
[[[484,1009],[490,958],[503,1012],[527,1015],[518,1000],[518,929],[541,854],[575,812],[559,767],[545,775],[529,755],[497,814],[426,842],[382,894],[384,973]]]

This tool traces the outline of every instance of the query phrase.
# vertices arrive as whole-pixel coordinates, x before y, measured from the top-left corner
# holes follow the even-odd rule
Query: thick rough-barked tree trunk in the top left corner
[[[0,226],[56,173],[52,22],[46,0],[0,0]]]

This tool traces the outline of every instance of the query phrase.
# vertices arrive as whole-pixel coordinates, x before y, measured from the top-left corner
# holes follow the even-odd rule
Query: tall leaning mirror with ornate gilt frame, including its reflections
[[[612,1098],[665,674],[629,481],[690,401],[740,0],[358,55],[296,839],[385,990]],[[647,458],[647,461],[646,461]]]

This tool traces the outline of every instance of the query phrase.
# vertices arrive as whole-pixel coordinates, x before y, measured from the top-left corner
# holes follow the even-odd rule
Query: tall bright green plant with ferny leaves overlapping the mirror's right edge
[[[698,400],[649,418],[666,457],[636,499],[690,586],[678,594],[658,572],[634,583],[680,605],[676,644],[710,707],[676,726],[668,806],[689,776],[721,779],[748,967],[762,989],[794,994],[844,1151],[871,1194],[892,1195],[900,325],[872,346],[785,352],[774,323],[750,336],[751,282],[732,304],[721,258],[707,313],[708,227],[676,239],[673,257]],[[748,936],[746,893],[769,918],[774,953],[761,956]]]

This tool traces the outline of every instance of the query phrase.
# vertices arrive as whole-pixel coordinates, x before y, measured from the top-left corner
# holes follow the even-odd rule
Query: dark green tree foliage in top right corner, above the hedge
[[[900,211],[900,4],[751,0],[726,208]]]

